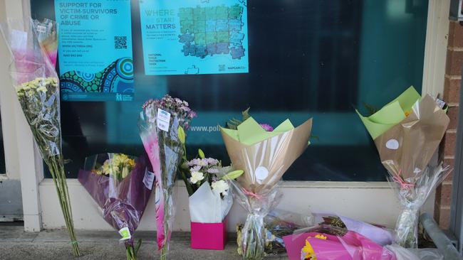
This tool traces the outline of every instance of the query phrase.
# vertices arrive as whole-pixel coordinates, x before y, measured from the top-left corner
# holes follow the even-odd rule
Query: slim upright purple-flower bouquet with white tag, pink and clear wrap
[[[188,102],[169,95],[148,100],[140,112],[140,137],[156,178],[156,230],[160,259],[167,259],[174,217],[172,189],[184,153],[185,131],[195,116]]]

